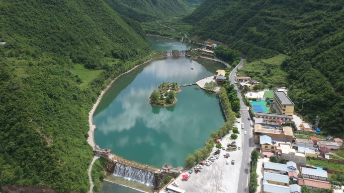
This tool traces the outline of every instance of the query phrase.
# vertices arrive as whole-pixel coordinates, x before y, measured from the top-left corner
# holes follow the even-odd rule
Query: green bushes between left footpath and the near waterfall
[[[103,181],[105,177],[104,167],[106,165],[104,165],[104,163],[106,162],[107,160],[104,157],[100,157],[93,163],[91,177],[94,184],[93,186],[94,192],[98,192],[100,190],[101,182]]]

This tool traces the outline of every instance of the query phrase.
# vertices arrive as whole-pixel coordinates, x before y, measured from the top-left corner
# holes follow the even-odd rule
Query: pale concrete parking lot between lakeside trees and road
[[[240,120],[240,119],[238,119]],[[241,120],[240,120],[241,121]],[[236,127],[239,128],[240,134],[235,140],[236,145],[242,147],[243,130],[241,129],[241,122],[236,123]],[[233,140],[230,138],[232,132],[223,137],[221,141],[222,146],[227,147],[228,143]],[[215,145],[211,156],[216,151]],[[230,157],[225,158],[223,154],[229,152]],[[209,158],[208,158],[209,159]],[[234,159],[234,165],[231,164]],[[226,161],[229,160],[229,164]],[[240,174],[240,165],[242,160],[242,148],[236,151],[225,151],[221,149],[219,159],[216,159],[210,166],[204,165],[201,172],[190,174],[189,180],[182,180],[182,175],[188,174],[188,172],[182,173],[175,181],[180,185],[178,188],[186,190],[186,192],[228,192],[237,193],[238,180]],[[206,160],[205,160],[206,161]],[[242,173],[242,172],[241,172]],[[161,192],[164,192],[163,190]]]

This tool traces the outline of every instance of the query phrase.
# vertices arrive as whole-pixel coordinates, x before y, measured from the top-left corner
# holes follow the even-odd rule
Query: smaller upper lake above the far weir
[[[156,36],[148,36],[149,40],[152,41],[150,46],[151,50],[189,50],[190,48],[198,48],[197,46],[188,46],[180,42],[179,40],[161,38]],[[165,43],[166,42],[166,43]]]

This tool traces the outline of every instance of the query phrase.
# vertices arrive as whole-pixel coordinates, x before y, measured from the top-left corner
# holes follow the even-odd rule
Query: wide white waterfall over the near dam
[[[129,165],[117,163],[113,175],[134,180],[146,185],[154,185],[154,173],[145,169],[138,169]]]

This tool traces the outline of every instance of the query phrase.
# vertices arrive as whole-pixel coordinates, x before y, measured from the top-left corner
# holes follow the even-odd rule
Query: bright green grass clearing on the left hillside
[[[82,83],[80,88],[83,90],[93,79],[97,78],[104,70],[89,70],[83,67],[82,64],[75,64],[70,70],[71,73],[77,75],[81,79]]]

